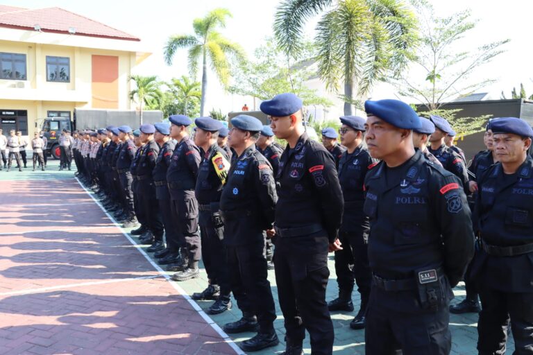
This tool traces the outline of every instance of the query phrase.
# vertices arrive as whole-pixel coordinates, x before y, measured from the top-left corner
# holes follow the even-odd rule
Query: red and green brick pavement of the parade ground
[[[206,275],[169,282],[146,254],[73,178],[49,164],[44,173],[0,172],[0,354],[235,354],[219,328],[240,318],[235,307],[203,313],[187,295]],[[328,300],[337,295],[330,261]],[[277,296],[273,272],[269,279]],[[462,300],[464,288],[455,291]],[[277,297],[276,297],[277,298]],[[355,306],[359,304],[357,295]],[[276,329],[284,329],[279,306]],[[354,314],[334,313],[335,354],[364,354],[364,331]],[[452,354],[477,354],[477,315],[452,315]],[[305,344],[306,354],[310,353]],[[282,352],[276,349],[260,352]],[[509,353],[513,345],[510,345]]]

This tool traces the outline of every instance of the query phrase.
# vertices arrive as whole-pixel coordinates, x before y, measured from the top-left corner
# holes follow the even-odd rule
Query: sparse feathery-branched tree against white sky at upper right
[[[403,77],[394,82],[400,95],[415,98],[428,110],[436,110],[454,96],[468,96],[495,81],[494,78],[472,81],[471,74],[502,53],[502,46],[509,40],[464,51],[459,46],[460,40],[475,27],[470,10],[439,17],[428,1],[412,2],[420,19],[421,41],[412,70],[405,71]]]

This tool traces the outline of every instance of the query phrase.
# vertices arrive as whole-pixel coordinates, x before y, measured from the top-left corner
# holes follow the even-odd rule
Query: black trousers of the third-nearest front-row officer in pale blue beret
[[[258,231],[262,234],[261,231]],[[273,330],[276,306],[267,279],[264,243],[226,245],[230,287],[244,315],[257,315],[260,331]]]

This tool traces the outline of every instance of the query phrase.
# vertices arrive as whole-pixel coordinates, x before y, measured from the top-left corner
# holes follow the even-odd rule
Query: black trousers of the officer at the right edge
[[[533,354],[533,293],[502,292],[481,286],[480,299],[479,354],[505,354],[509,321],[514,338],[513,354]]]

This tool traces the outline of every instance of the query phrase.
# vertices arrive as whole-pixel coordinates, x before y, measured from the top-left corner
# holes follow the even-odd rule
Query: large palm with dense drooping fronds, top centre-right
[[[298,53],[305,21],[323,10],[315,37],[319,76],[328,89],[344,83],[349,115],[355,97],[389,74],[398,76],[412,58],[416,17],[402,0],[282,0],[274,21],[281,48]]]

